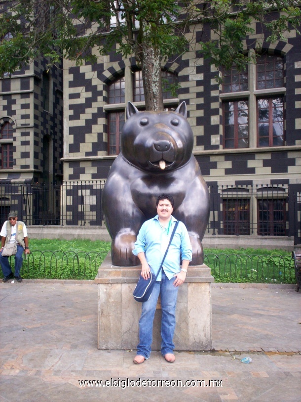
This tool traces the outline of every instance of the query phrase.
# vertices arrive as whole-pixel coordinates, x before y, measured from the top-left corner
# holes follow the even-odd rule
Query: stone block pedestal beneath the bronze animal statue
[[[141,303],[133,298],[141,267],[116,267],[111,253],[98,269],[98,349],[136,349]],[[176,351],[211,349],[211,282],[206,265],[189,266],[180,286],[176,308]],[[152,350],[160,350],[161,306],[158,300],[153,323]]]

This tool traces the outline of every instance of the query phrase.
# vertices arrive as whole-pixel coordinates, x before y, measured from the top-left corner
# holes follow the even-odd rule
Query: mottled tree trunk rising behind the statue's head
[[[163,110],[159,49],[143,44],[141,67],[146,110]]]

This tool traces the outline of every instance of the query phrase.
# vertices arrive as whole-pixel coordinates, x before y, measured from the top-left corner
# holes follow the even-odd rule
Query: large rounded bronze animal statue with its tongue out
[[[159,194],[169,193],[173,216],[184,222],[192,246],[190,265],[203,264],[201,244],[209,219],[208,187],[192,155],[186,103],[175,112],[139,112],[129,102],[117,156],[103,190],[102,209],[112,237],[112,263],[132,267],[138,231],[156,214]]]

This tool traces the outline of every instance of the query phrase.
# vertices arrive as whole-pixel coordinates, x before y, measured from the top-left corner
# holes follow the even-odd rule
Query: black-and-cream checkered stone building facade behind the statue
[[[261,25],[254,28],[244,49],[256,63],[238,72],[204,60],[198,43],[212,33],[193,27],[194,49],[162,64],[164,106],[187,103],[193,153],[210,189],[208,233],[294,236],[299,244],[301,40],[293,30],[287,42],[270,44]],[[115,51],[93,65],[64,60],[64,77],[61,71],[47,73],[39,62],[1,80],[0,179],[58,182],[63,174],[60,224],[100,225],[101,189],[120,151],[126,104],[144,108],[141,71],[134,57]],[[43,106],[45,74],[51,110]],[[176,95],[170,84],[179,85]]]

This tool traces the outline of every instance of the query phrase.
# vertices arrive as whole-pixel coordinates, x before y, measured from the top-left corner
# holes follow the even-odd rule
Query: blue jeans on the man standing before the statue
[[[149,358],[151,356],[152,323],[159,295],[161,296],[161,353],[173,353],[175,345],[173,337],[176,326],[176,303],[179,287],[173,285],[175,278],[168,279],[162,270],[161,281],[156,281],[147,302],[142,303],[142,312],[139,320],[139,344],[137,355]]]

